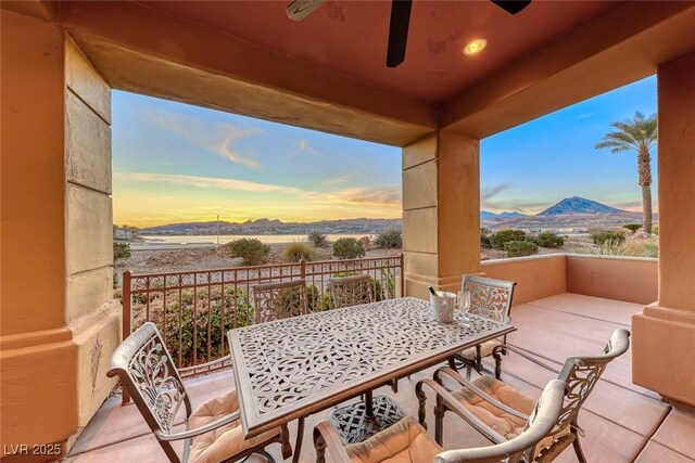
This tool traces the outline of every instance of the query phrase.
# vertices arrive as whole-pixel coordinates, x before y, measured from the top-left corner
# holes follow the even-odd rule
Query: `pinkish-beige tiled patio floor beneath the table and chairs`
[[[570,355],[601,351],[612,330],[629,329],[630,317],[640,310],[642,306],[636,304],[576,294],[556,295],[514,307],[513,320],[518,331],[509,336],[509,343],[560,366]],[[552,377],[552,373],[518,356],[507,357],[503,368],[506,382],[535,397]],[[416,415],[417,401],[413,388],[418,380],[431,377],[432,371],[402,380],[397,395],[392,395],[387,387],[378,394],[392,395],[406,412]],[[580,425],[586,432],[582,443],[589,461],[695,462],[695,415],[674,410],[660,402],[654,393],[632,384],[630,371],[628,352],[608,366],[580,414]],[[192,381],[189,390],[193,404],[227,390],[232,384],[231,373]],[[307,419],[302,462],[314,461],[311,430],[326,420],[328,413]],[[451,413],[447,414],[445,429],[446,448],[488,445]],[[290,433],[293,438],[292,425]],[[280,460],[279,446],[270,446],[268,450]],[[77,440],[68,461],[108,463],[134,460],[164,462],[166,458],[135,406],[119,407],[118,398],[110,399]],[[261,460],[258,458],[257,461]],[[577,461],[571,447],[559,461]]]

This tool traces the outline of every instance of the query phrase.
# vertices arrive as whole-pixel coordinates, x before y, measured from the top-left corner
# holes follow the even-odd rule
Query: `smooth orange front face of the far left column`
[[[65,326],[64,37],[0,14],[0,445],[48,443],[77,430],[77,349]]]

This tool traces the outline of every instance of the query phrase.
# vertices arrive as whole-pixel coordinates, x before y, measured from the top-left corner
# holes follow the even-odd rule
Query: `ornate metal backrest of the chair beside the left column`
[[[155,435],[173,434],[174,419],[181,404],[187,419],[192,412],[181,376],[154,323],[144,323],[116,348],[106,375],[121,378]],[[170,442],[159,442],[170,461],[180,461]]]

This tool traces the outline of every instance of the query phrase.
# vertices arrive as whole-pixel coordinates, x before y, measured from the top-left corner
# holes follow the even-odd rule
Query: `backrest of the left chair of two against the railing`
[[[251,286],[256,323],[306,313],[306,281],[258,283]]]

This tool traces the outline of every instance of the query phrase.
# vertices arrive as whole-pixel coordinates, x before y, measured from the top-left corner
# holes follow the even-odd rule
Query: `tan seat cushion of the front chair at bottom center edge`
[[[364,442],[345,447],[354,463],[429,463],[442,451],[416,419],[406,416]]]

